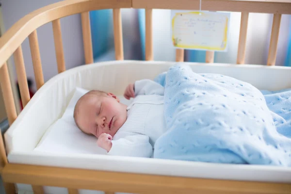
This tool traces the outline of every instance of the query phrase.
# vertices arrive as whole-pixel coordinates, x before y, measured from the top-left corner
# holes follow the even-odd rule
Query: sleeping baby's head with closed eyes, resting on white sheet
[[[111,136],[117,132],[127,119],[126,105],[112,94],[108,96],[88,95],[82,99],[78,112],[79,127],[97,138],[102,133]]]

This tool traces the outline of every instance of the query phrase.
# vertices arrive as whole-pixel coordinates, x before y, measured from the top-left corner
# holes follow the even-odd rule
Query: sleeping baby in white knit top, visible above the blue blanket
[[[164,87],[151,80],[128,85],[124,97],[134,98],[129,106],[112,93],[91,90],[78,100],[74,120],[109,155],[151,157],[166,130],[163,95]]]

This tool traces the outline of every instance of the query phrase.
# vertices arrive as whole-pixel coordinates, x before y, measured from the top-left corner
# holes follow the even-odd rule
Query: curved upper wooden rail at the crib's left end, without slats
[[[48,22],[92,10],[130,7],[131,0],[64,0],[42,7],[18,20],[0,38],[0,67],[25,38]]]

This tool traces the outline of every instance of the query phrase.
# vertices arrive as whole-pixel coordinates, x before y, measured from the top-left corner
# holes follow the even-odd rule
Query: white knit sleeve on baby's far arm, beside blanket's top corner
[[[138,95],[164,95],[164,87],[152,80],[139,80],[134,83],[134,94]]]

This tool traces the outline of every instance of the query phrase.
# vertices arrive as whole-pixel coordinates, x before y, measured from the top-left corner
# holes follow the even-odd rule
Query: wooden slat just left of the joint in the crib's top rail
[[[123,60],[122,23],[120,9],[113,9],[115,59]]]

